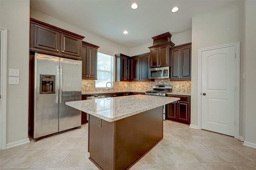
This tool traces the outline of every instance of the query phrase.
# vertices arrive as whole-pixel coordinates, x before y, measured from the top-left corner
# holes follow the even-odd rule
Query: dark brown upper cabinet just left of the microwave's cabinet
[[[132,57],[131,81],[150,81],[149,79],[150,53]]]

